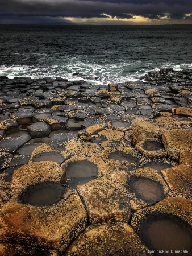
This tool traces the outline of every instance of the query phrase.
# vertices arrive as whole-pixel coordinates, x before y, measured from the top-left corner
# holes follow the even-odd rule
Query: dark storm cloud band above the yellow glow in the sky
[[[192,0],[1,0],[0,15],[50,17],[103,17],[130,19],[140,15],[159,19],[182,19],[192,12]],[[106,15],[103,15],[106,14]]]

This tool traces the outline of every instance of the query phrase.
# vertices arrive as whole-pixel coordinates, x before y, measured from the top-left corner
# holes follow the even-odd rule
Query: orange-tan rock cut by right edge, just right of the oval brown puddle
[[[192,198],[192,172],[191,166],[180,164],[166,170],[162,170],[166,183],[174,196]]]

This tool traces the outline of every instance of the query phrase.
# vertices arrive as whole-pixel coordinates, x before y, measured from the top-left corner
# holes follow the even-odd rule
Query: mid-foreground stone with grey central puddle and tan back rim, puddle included
[[[105,162],[98,156],[91,158],[74,156],[66,160],[61,167],[66,172],[67,184],[73,188],[86,184],[109,171]]]

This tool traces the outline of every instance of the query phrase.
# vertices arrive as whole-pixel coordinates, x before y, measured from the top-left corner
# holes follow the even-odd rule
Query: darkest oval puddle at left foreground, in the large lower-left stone
[[[60,183],[46,181],[43,183],[30,185],[24,189],[20,199],[24,204],[36,206],[53,205],[62,199],[65,191],[66,188]]]

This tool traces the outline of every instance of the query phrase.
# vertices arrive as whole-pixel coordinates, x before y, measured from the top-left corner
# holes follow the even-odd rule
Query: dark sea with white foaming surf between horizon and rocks
[[[0,76],[108,84],[137,80],[153,69],[191,67],[192,25],[0,25]]]

